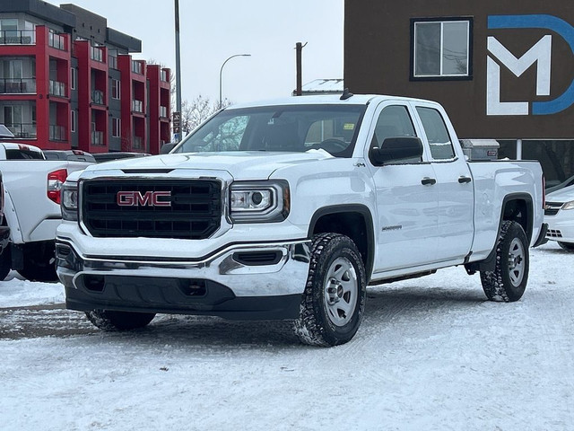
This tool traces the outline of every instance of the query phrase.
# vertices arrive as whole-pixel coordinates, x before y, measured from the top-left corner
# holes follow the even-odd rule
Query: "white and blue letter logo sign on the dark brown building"
[[[489,29],[544,29],[559,34],[574,55],[574,28],[552,15],[491,15]],[[568,89],[551,101],[500,101],[500,65],[519,77],[536,64],[536,96],[550,96],[552,35],[547,34],[520,57],[515,57],[499,40],[487,38],[486,115],[551,115],[574,104],[574,77]],[[495,60],[498,60],[495,61]],[[532,107],[531,107],[532,105]],[[532,109],[531,109],[532,108]]]

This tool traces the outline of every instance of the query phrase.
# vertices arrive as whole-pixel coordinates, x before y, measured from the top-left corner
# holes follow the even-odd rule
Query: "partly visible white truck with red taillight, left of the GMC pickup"
[[[0,280],[11,269],[37,281],[57,281],[55,239],[62,221],[60,189],[85,162],[46,160],[34,145],[0,142],[4,220],[10,242],[0,256]]]

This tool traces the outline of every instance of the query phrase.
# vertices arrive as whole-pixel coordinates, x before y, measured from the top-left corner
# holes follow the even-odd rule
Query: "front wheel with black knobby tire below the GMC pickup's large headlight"
[[[338,233],[313,237],[300,317],[294,330],[311,346],[336,346],[352,339],[361,325],[367,281],[361,254]]]

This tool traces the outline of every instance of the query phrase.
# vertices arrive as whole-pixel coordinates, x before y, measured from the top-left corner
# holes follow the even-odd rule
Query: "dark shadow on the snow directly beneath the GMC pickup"
[[[406,326],[417,321],[427,321],[429,317],[440,320],[448,313],[462,313],[468,308],[482,307],[488,302],[480,287],[476,291],[376,287],[368,289],[367,296],[364,319],[357,334],[359,339],[372,337],[380,330],[387,329],[390,321],[396,327],[396,318],[399,317],[404,322],[399,322],[399,325]],[[169,345],[171,348],[194,347],[213,352],[229,348],[241,350],[263,347],[265,350],[267,347],[302,347],[293,333],[292,321],[228,321],[216,317],[160,314],[141,330],[98,334],[98,342],[106,339],[109,343],[120,345]]]

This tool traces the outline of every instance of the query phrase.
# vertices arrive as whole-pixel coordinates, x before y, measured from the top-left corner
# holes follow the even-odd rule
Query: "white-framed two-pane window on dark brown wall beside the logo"
[[[411,78],[470,79],[472,35],[470,18],[411,20]]]

